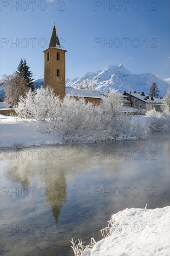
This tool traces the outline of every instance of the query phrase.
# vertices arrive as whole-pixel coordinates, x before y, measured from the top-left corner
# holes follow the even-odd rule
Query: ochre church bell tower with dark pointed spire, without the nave
[[[54,26],[49,47],[44,51],[44,82],[45,88],[53,88],[55,95],[59,95],[61,99],[65,96],[65,52],[67,51],[61,49]]]

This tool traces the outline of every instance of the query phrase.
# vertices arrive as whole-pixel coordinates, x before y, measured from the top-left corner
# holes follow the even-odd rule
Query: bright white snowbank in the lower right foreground
[[[100,240],[85,256],[169,256],[170,206],[125,209],[112,216],[111,236]]]

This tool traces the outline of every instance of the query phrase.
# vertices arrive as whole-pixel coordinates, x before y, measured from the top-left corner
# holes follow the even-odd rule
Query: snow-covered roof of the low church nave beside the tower
[[[94,94],[89,89],[72,89],[72,88],[65,88],[65,94],[71,94],[74,97],[84,97],[84,98],[97,98],[101,99],[100,96]]]

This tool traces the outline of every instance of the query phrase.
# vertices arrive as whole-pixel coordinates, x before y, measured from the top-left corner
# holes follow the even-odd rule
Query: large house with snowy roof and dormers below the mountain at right
[[[163,104],[162,99],[150,97],[144,93],[136,91],[124,92],[123,95],[128,97],[128,101],[131,101],[131,107],[141,109],[144,112],[151,110],[153,107],[158,110]]]

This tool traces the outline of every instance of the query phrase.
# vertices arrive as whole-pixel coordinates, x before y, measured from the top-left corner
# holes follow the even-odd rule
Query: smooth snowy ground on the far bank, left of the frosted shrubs
[[[0,148],[57,144],[56,138],[26,126],[18,117],[0,115]]]

